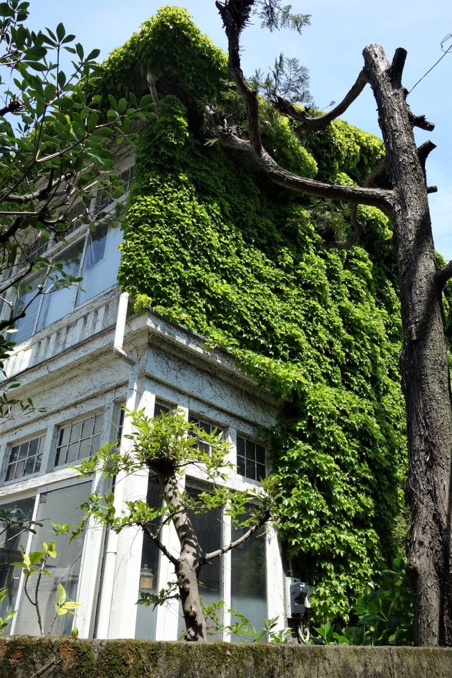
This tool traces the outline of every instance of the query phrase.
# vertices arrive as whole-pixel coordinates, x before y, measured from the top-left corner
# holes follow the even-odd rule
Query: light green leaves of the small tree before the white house
[[[76,467],[83,477],[102,473],[104,477],[115,478],[121,472],[134,473],[149,469],[156,474],[165,469],[168,477],[181,476],[189,465],[195,465],[212,481],[209,492],[198,492],[194,497],[185,490],[179,492],[177,503],[166,498],[161,506],[149,506],[140,499],[125,501],[127,510],[118,513],[111,490],[102,494],[93,492],[87,503],[82,522],[73,535],[79,534],[90,516],[101,524],[106,524],[116,532],[132,525],[153,525],[162,519],[168,521],[181,510],[195,514],[208,513],[213,508],[223,508],[225,515],[232,518],[236,528],[249,528],[259,522],[270,501],[266,487],[271,488],[272,481],[264,483],[264,488],[249,490],[230,490],[221,481],[225,481],[232,464],[227,460],[230,443],[225,442],[222,433],[213,430],[207,433],[195,423],[187,421],[179,412],[162,413],[159,417],[147,417],[144,410],[125,410],[134,427],[127,435],[131,440],[131,452],[118,450],[118,441],[104,445],[97,454],[84,459]],[[200,445],[202,442],[202,445]],[[250,505],[250,500],[255,503]],[[252,510],[250,511],[250,506]],[[161,594],[172,595],[172,588]],[[142,598],[140,604],[159,604],[155,597]]]

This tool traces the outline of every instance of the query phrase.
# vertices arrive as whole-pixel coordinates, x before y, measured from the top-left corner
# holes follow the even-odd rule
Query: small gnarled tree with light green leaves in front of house
[[[205,641],[207,620],[199,590],[202,567],[255,534],[270,518],[271,499],[264,487],[255,492],[227,487],[227,475],[234,467],[227,460],[230,444],[218,431],[207,433],[180,412],[150,418],[144,410],[138,410],[127,411],[127,416],[134,426],[134,433],[127,436],[132,442],[131,451],[107,444],[96,455],[83,460],[79,472],[81,476],[90,476],[101,471],[104,476],[114,478],[120,472],[131,474],[147,469],[159,483],[163,501],[159,506],[149,506],[142,499],[125,501],[118,513],[113,491],[95,492],[82,506],[86,511],[82,525],[93,516],[117,533],[129,526],[140,527],[175,567],[174,583],[158,595],[142,594],[140,602],[163,604],[170,597],[179,597],[186,624],[185,639]],[[195,497],[188,494],[181,482],[190,466],[202,469],[209,482],[209,488]],[[205,553],[190,513],[208,513],[214,508],[223,508],[234,527],[243,529],[243,533],[233,542]],[[162,540],[162,528],[169,522],[179,538],[179,556],[173,555]]]

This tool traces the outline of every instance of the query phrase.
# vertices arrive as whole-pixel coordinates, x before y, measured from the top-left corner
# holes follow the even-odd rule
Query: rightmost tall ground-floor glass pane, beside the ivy
[[[243,530],[232,527],[231,540],[238,539]],[[231,607],[250,620],[252,627],[264,628],[267,616],[265,528],[231,551]],[[239,620],[231,615],[232,624]],[[232,636],[232,640],[249,640]]]

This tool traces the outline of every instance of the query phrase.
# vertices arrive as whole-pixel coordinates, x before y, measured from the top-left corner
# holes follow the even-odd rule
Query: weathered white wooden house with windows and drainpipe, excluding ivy
[[[130,168],[124,172],[130,182]],[[1,423],[0,509],[20,508],[40,523],[35,535],[16,528],[0,538],[0,587],[8,589],[0,616],[6,606],[17,609],[12,633],[38,633],[38,622],[21,570],[10,563],[19,559],[21,549],[40,549],[41,540],[51,538],[59,556],[49,563],[54,576],[45,578],[40,588],[45,628],[54,617],[58,583],[81,603],[76,620],[58,618],[52,633],[68,633],[74,625],[82,638],[177,640],[183,630],[177,602],[156,611],[136,605],[140,575],[142,584],[147,575],[145,586],[154,592],[174,579],[172,565],[150,540],[143,540],[141,531],[106,534],[90,522],[72,542],[51,531],[52,521],[76,524],[78,507],[104,482],[99,477],[81,479],[67,465],[76,465],[118,436],[122,446],[128,444],[123,405],[145,407],[150,414],[179,407],[187,417],[223,430],[237,466],[229,476],[232,487],[253,487],[265,473],[261,431],[275,423],[278,403],[227,355],[210,352],[202,337],[152,313],[129,316],[123,339],[120,324],[122,349],[113,351],[121,237],[108,223],[95,232],[80,225],[65,243],[50,243],[46,256],[58,257],[67,271],[82,275],[82,289],[37,296],[17,323],[17,346],[6,361],[6,373],[21,384],[15,396],[31,398],[36,409],[16,412]],[[29,282],[33,289],[40,279],[31,275]],[[33,292],[24,293],[25,302],[27,294]],[[205,487],[202,472],[189,469],[186,486]],[[145,474],[136,474],[117,484],[115,501],[120,507],[125,498],[146,495],[157,501],[156,486]],[[207,551],[234,538],[230,520],[220,510],[195,517],[195,523]],[[163,529],[164,540],[177,554],[174,529]],[[284,572],[270,524],[263,535],[204,567],[202,579],[207,601],[225,600],[226,609],[239,609],[259,628],[266,617],[278,617],[284,627]],[[225,613],[225,623],[228,617]]]

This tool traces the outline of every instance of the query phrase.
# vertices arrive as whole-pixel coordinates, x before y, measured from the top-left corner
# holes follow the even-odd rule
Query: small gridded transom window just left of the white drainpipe
[[[88,419],[69,423],[60,429],[56,448],[55,466],[72,464],[89,457],[100,447],[104,414],[94,414]]]

